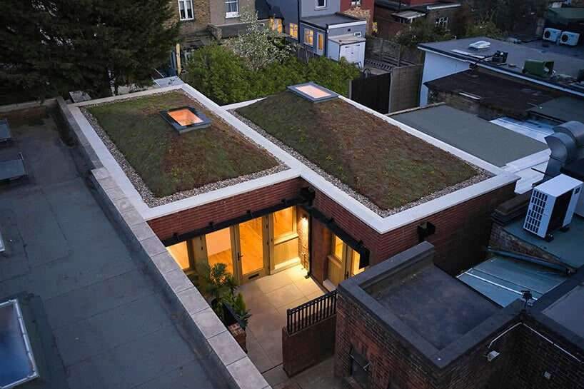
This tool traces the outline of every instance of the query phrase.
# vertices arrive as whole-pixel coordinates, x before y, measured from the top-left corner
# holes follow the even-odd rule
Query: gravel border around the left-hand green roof
[[[161,92],[159,94],[171,94],[171,93],[177,93],[177,92],[184,94],[188,98],[191,98],[193,101],[196,101],[196,103],[201,104],[201,106],[204,106],[204,104],[201,103],[200,101],[198,101],[196,98],[194,98],[190,94],[186,94],[184,91],[182,91],[180,89],[173,90],[173,91],[165,91],[165,92]],[[289,169],[288,166],[286,166],[276,156],[273,156],[273,154],[270,153],[268,150],[266,150],[266,148],[258,145],[258,143],[253,141],[251,138],[248,138],[243,133],[240,133],[238,131],[238,134],[240,136],[243,136],[243,138],[245,138],[246,141],[252,143],[257,148],[260,148],[263,151],[266,151],[266,153],[268,153],[270,156],[272,156],[272,158],[274,158],[276,161],[278,161],[278,165],[274,166],[273,168],[269,168],[267,170],[257,171],[256,173],[246,174],[246,175],[238,176],[235,178],[228,178],[226,180],[216,181],[214,183],[208,183],[206,185],[199,186],[198,188],[189,189],[188,191],[176,192],[176,193],[173,193],[169,196],[156,197],[156,196],[154,196],[154,193],[152,193],[150,188],[148,188],[148,186],[146,186],[146,183],[144,183],[144,180],[141,178],[141,176],[136,171],[136,169],[134,169],[134,167],[131,166],[131,164],[126,160],[124,153],[122,153],[119,150],[119,148],[117,148],[116,144],[113,141],[111,141],[111,139],[109,138],[109,136],[106,133],[106,131],[104,130],[104,128],[102,128],[99,125],[99,122],[97,121],[97,119],[93,115],[91,115],[91,112],[89,112],[89,109],[88,109],[88,108],[91,108],[93,106],[102,106],[102,105],[107,105],[107,104],[121,103],[123,101],[134,100],[136,98],[140,98],[140,97],[129,96],[129,98],[121,98],[119,100],[108,101],[106,103],[91,104],[91,105],[83,106],[80,108],[81,108],[81,113],[84,114],[87,121],[89,121],[91,126],[94,128],[94,131],[96,131],[99,138],[101,138],[101,141],[104,142],[104,145],[108,148],[111,155],[114,156],[114,159],[116,160],[116,162],[119,164],[119,166],[124,171],[124,173],[126,173],[126,177],[128,177],[128,179],[130,180],[132,185],[134,185],[134,188],[136,188],[136,191],[138,191],[138,193],[140,193],[142,200],[144,200],[144,203],[146,203],[146,205],[149,208],[153,208],[156,206],[163,206],[163,205],[168,204],[168,203],[173,203],[174,201],[182,200],[183,198],[188,198],[188,197],[200,195],[202,193],[216,191],[217,189],[226,188],[228,186],[233,186],[233,185],[236,185],[238,183],[251,181],[253,179],[261,178],[264,176],[269,176],[271,174],[279,173],[281,171],[286,171]],[[218,118],[218,119],[223,120],[222,118]],[[228,124],[228,126],[231,126],[231,125]],[[233,130],[233,131],[237,131],[237,130]]]

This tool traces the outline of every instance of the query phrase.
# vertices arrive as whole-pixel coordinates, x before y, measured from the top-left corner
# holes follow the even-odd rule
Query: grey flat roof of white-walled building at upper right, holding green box
[[[486,50],[473,50],[469,49],[468,45],[475,41],[488,41],[490,42],[490,48]],[[495,51],[507,51],[509,53],[507,63],[515,64],[515,67],[510,67],[508,65],[498,66],[495,64],[490,64],[488,62],[481,62],[481,66],[488,67],[490,69],[501,69],[514,74],[522,74],[523,64],[526,59],[535,59],[541,61],[554,61],[554,70],[557,74],[567,74],[568,76],[576,77],[578,76],[578,71],[584,69],[584,58],[580,56],[569,56],[565,54],[559,54],[550,50],[546,50],[544,47],[540,49],[535,49],[530,46],[523,44],[512,44],[510,42],[498,41],[497,39],[486,38],[485,36],[479,36],[475,38],[465,38],[465,39],[453,39],[451,41],[442,42],[432,42],[427,44],[419,44],[418,47],[421,49],[427,49],[431,51],[436,51],[441,54],[447,54],[448,56],[453,56],[459,59],[474,59],[474,55],[480,56],[490,56],[495,54]],[[460,50],[468,53],[468,55],[462,54],[460,52],[455,53],[453,50]],[[530,79],[538,79],[540,81],[548,82],[549,84],[559,84],[560,82],[553,81],[551,79],[541,79],[539,77],[524,75]],[[566,85],[563,85],[566,86]],[[580,90],[584,91],[584,90]]]

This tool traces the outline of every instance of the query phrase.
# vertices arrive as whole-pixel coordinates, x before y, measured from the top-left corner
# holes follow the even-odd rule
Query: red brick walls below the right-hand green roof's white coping
[[[436,226],[436,233],[428,237],[428,241],[436,246],[436,266],[451,275],[458,275],[482,261],[490,236],[490,215],[500,203],[515,196],[514,188],[515,184],[509,184],[424,219]],[[316,193],[314,206],[334,218],[334,222],[357,241],[363,241],[371,251],[371,265],[418,244],[418,224],[422,221],[380,235],[323,193]],[[316,232],[315,225],[313,223],[311,261],[313,276],[322,282],[320,277],[322,273],[326,278],[326,255],[330,253],[330,247],[319,246],[330,246],[330,239],[323,240],[323,234]]]

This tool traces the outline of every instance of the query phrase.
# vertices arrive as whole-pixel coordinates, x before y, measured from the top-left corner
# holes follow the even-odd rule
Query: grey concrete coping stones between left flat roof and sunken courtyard
[[[204,344],[211,350],[218,370],[231,387],[271,388],[148,223],[126,196],[120,196],[123,192],[111,178],[109,171],[106,168],[96,168],[91,171],[91,176],[107,210],[121,224],[132,246],[143,254],[141,257],[146,261],[146,267],[155,273],[173,307],[182,310],[181,315],[186,319],[186,325],[194,328],[193,336],[203,338]]]

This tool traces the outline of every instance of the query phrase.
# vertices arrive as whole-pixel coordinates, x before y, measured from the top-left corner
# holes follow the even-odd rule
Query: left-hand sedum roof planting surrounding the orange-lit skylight
[[[185,106],[203,114],[197,121],[208,118],[211,124],[178,133],[160,111]],[[126,167],[126,175],[134,178],[134,186],[141,186],[137,173],[156,198],[227,180],[244,181],[279,165],[265,149],[182,91],[87,106],[85,113],[94,118],[89,117],[94,129]]]

